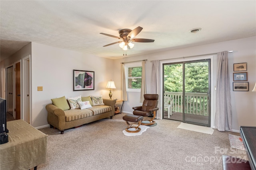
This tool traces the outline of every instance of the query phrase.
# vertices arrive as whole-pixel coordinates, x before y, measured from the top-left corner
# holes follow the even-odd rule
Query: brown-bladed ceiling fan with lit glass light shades
[[[131,30],[131,29],[120,29],[118,31],[119,36],[114,36],[114,35],[109,35],[106,33],[100,33],[102,35],[107,35],[110,37],[114,37],[114,38],[118,38],[120,39],[120,41],[111,43],[111,44],[107,44],[104,45],[103,47],[109,46],[109,45],[113,45],[116,43],[120,43],[119,47],[121,47],[123,50],[127,50],[127,49],[132,49],[134,47],[134,44],[131,42],[138,42],[138,43],[152,43],[155,40],[154,39],[143,39],[143,38],[134,38],[136,35],[138,35],[138,33],[140,33],[140,31],[142,30],[142,27],[136,27],[135,29]]]

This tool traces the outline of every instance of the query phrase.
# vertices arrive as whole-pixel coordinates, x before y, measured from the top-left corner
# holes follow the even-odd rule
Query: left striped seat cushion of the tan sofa
[[[92,111],[88,109],[70,109],[64,111],[66,116],[66,121],[73,121],[77,119],[82,119],[84,117],[92,116]]]

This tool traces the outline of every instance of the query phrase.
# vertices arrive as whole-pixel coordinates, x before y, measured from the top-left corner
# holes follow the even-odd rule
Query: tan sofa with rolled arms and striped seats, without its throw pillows
[[[103,99],[104,105],[92,106],[88,109],[68,109],[63,111],[54,104],[46,105],[47,121],[50,127],[59,129],[61,134],[65,129],[78,127],[86,123],[110,117],[115,114],[116,100]]]

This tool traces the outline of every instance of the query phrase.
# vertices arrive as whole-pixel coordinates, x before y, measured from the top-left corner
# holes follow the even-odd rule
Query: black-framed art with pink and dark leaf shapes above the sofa
[[[73,70],[73,91],[94,90],[94,71]]]

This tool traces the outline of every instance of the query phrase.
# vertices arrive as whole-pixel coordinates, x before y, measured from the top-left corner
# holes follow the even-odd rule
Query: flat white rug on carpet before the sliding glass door
[[[180,123],[180,125],[177,128],[200,132],[200,133],[206,133],[210,135],[212,135],[214,132],[214,130],[211,127],[198,126],[198,125],[193,125],[193,124],[183,123],[183,122]]]

